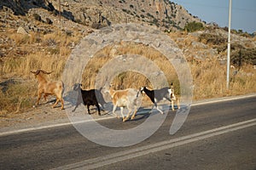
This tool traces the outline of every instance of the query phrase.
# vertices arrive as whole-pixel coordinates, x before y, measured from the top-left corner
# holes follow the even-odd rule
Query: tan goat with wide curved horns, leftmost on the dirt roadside
[[[64,100],[62,98],[64,92],[64,84],[61,81],[48,81],[44,74],[50,74],[51,72],[47,71],[31,71],[35,77],[38,79],[38,99],[36,105],[39,105],[39,100],[41,99],[42,94],[44,94],[44,100],[47,100],[48,95],[55,95],[56,101],[52,108],[55,107],[61,101],[61,110],[64,109]]]

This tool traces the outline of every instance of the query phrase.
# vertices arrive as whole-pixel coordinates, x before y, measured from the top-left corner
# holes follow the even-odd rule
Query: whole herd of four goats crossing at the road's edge
[[[61,109],[64,109],[64,100],[63,100],[63,93],[64,93],[64,84],[61,81],[48,81],[44,75],[50,74],[51,72],[38,70],[38,71],[31,71],[35,77],[38,79],[38,99],[36,105],[39,104],[39,100],[41,99],[42,95],[44,94],[44,99],[47,100],[48,95],[55,95],[56,101],[55,104],[52,106],[53,108],[61,101]],[[74,91],[79,92],[77,103],[73,111],[75,111],[80,104],[84,104],[87,106],[88,113],[90,114],[90,105],[96,105],[98,110],[98,115],[101,115],[100,105],[102,108],[106,104],[103,96],[102,96],[102,88],[100,89],[90,89],[90,90],[83,90],[81,88],[82,84],[76,83],[73,87]],[[146,87],[135,89],[135,88],[127,88],[124,90],[114,90],[113,86],[110,85],[109,87],[105,87],[105,92],[108,92],[112,98],[113,102],[113,115],[117,107],[120,107],[121,115],[123,118],[123,122],[127,121],[130,117],[131,111],[134,111],[131,120],[134,119],[136,116],[137,110],[139,109],[142,99],[143,93],[148,96],[148,98],[152,101],[153,108],[155,107],[161,114],[161,111],[157,105],[160,100],[169,100],[172,102],[172,111],[174,111],[174,104],[173,101],[177,100],[174,94],[173,87],[171,88],[161,88],[155,90],[149,90]],[[177,100],[178,101],[178,100]],[[179,108],[178,102],[177,106]],[[126,107],[128,109],[127,116],[124,116],[123,109]],[[152,108],[152,109],[153,109]],[[119,116],[117,116],[119,117]]]

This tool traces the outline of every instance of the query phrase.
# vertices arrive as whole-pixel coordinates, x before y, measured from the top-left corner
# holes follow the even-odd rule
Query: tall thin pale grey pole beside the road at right
[[[231,30],[231,8],[232,0],[230,0],[230,12],[229,12],[229,38],[228,38],[228,56],[227,56],[227,89],[230,89],[230,30]]]

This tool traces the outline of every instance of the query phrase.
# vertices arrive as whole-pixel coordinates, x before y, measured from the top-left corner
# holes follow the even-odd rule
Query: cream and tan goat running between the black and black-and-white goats
[[[132,109],[134,109],[131,120],[134,119],[138,107],[141,105],[142,101],[142,94],[140,90],[135,88],[127,88],[125,90],[113,90],[113,86],[111,85],[108,92],[113,101],[113,115],[116,115],[116,108],[120,107],[123,122],[125,122],[129,119]],[[124,107],[127,107],[128,109],[128,114],[126,117],[123,114]],[[119,116],[117,117],[119,118]]]

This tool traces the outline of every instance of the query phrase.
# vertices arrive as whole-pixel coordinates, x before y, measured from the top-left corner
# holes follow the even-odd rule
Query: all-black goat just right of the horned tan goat
[[[73,111],[76,111],[78,106],[83,103],[84,105],[87,105],[88,114],[90,115],[90,108],[89,108],[90,105],[96,105],[98,109],[98,115],[101,116],[99,103],[102,105],[102,107],[103,105],[106,104],[101,93],[102,88],[100,88],[99,90],[97,89],[83,90],[81,87],[82,87],[82,84],[80,83],[76,83],[73,87],[74,91],[79,92],[77,104],[73,109]],[[99,102],[97,99],[99,100]]]

